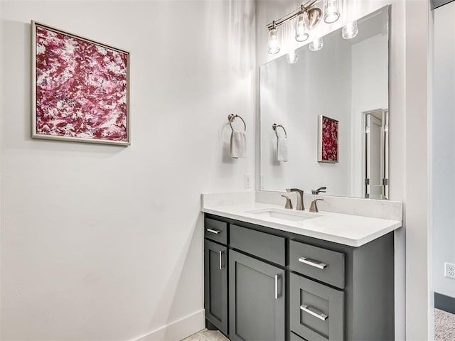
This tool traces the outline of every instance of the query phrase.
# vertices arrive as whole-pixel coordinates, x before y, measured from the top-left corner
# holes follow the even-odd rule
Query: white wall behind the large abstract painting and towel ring
[[[132,146],[31,140],[31,19],[131,52]],[[1,340],[203,327],[200,193],[254,174],[254,25],[252,0],[1,1]]]

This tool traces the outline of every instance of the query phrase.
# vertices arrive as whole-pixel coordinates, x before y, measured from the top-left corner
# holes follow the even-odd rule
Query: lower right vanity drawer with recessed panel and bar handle
[[[343,341],[344,293],[291,274],[291,330],[306,340]]]

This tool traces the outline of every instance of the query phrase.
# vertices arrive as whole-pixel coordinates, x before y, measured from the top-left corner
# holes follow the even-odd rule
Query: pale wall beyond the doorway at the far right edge
[[[434,10],[432,106],[433,288],[455,298],[455,279],[444,277],[444,262],[455,264],[455,2]]]

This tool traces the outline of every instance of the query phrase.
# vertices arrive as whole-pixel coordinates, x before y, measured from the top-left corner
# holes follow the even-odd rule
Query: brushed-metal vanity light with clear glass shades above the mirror
[[[301,42],[309,38],[309,31],[319,24],[322,17],[326,23],[334,23],[340,18],[339,0],[324,0],[324,13],[322,13],[321,9],[316,7],[316,4],[319,3],[319,1],[321,0],[306,0],[298,9],[267,24],[267,28],[269,29],[269,44],[267,50],[269,53],[274,54],[279,52],[277,27],[288,21],[296,19],[295,39]],[[319,49],[321,48],[322,45]]]

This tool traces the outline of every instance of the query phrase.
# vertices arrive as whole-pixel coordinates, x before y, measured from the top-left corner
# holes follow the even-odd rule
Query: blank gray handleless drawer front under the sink
[[[286,266],[286,239],[283,237],[230,225],[230,246]]]

